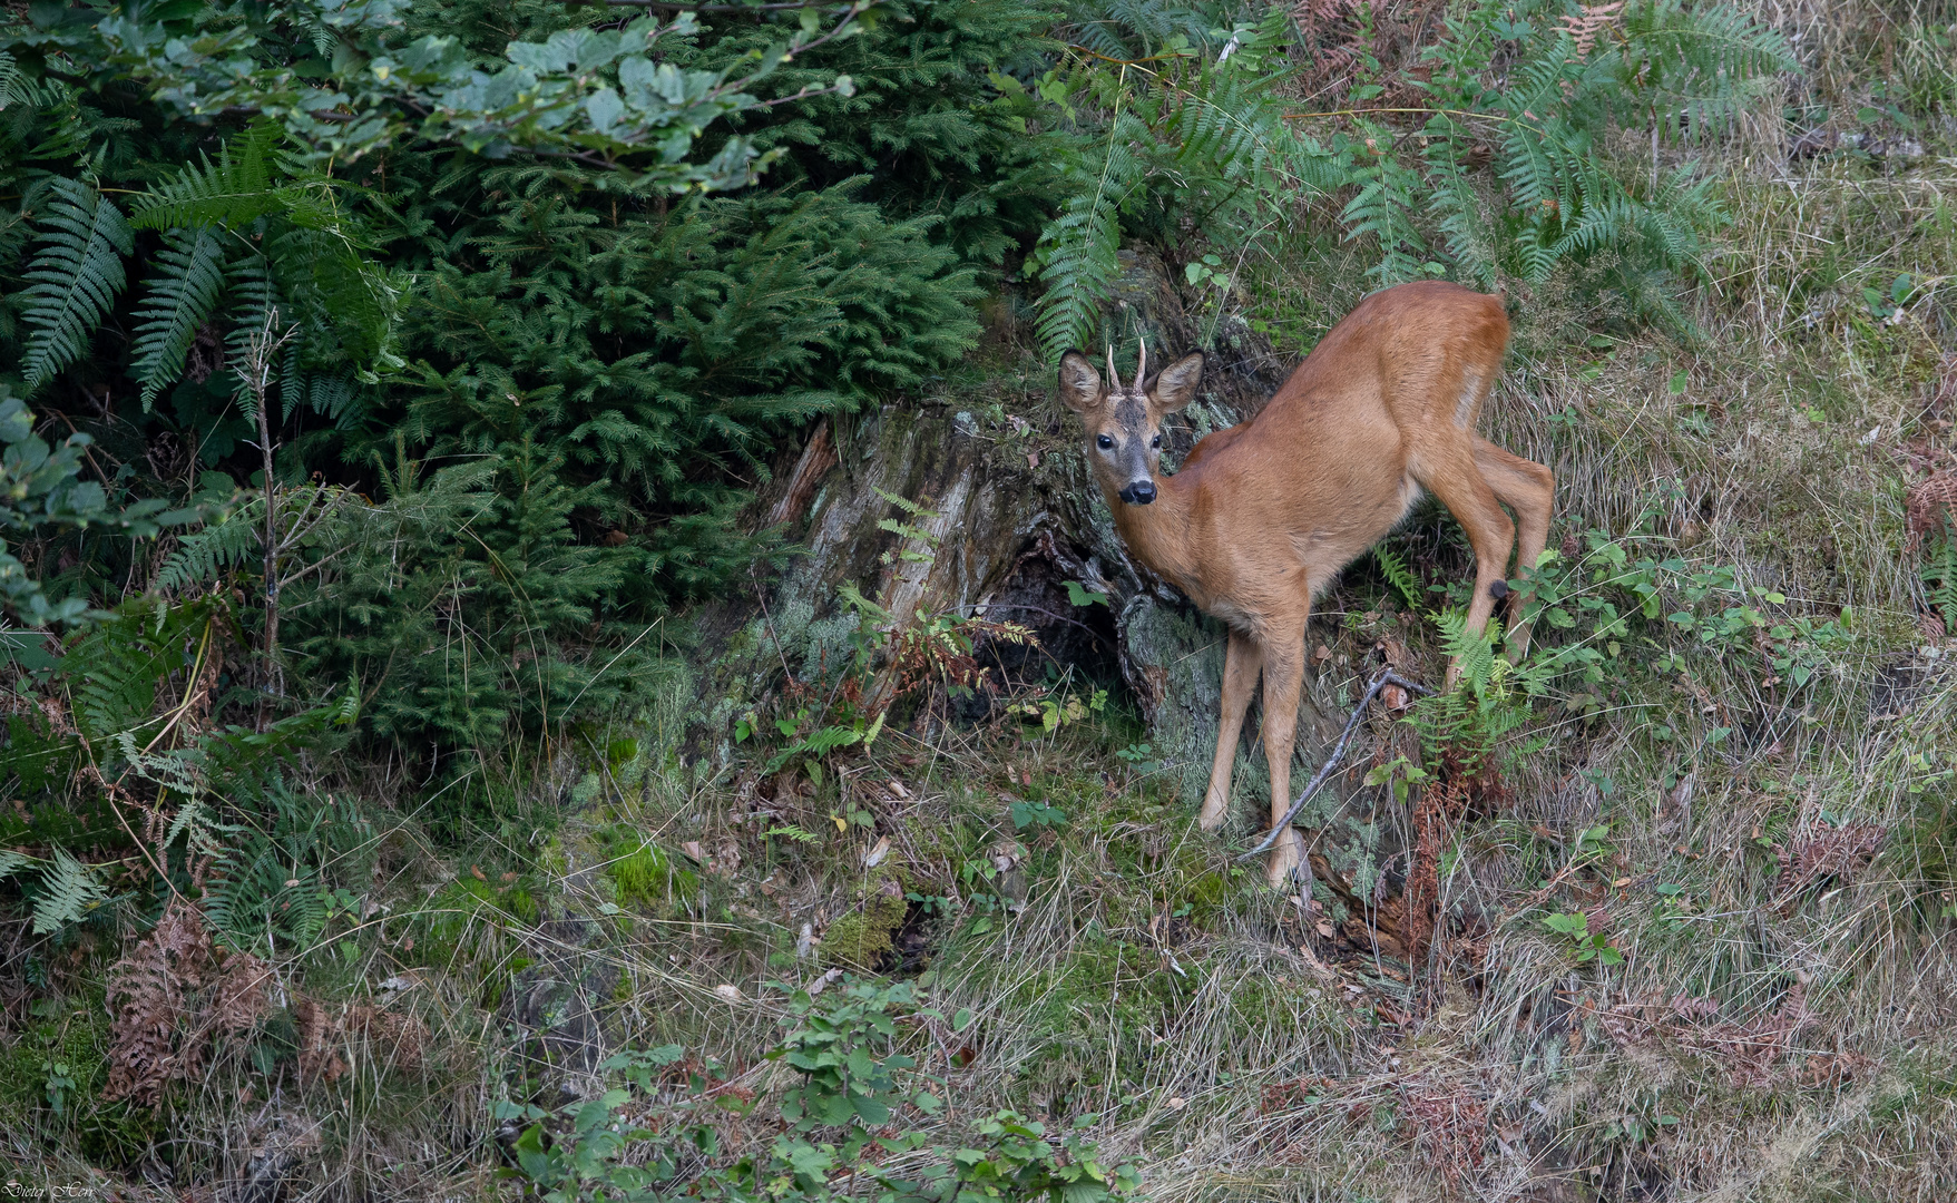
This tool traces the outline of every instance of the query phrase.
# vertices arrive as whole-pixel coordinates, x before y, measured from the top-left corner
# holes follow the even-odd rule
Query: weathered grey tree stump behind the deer
[[[1157,362],[1194,346],[1211,356],[1204,397],[1170,434],[1164,464],[1172,464],[1202,434],[1256,413],[1296,364],[1278,360],[1241,325],[1204,338],[1161,264],[1123,254],[1123,268],[1110,329],[1121,331],[1127,346],[1145,336]],[[736,665],[712,683],[722,700],[708,726],[724,732],[769,673],[779,679],[787,669],[816,681],[840,665],[855,622],[842,612],[838,591],[853,585],[900,622],[920,612],[1010,620],[1033,628],[1043,651],[1063,663],[1117,667],[1149,724],[1155,757],[1194,808],[1215,747],[1223,628],[1129,559],[1080,444],[1078,423],[1039,374],[1022,391],[892,403],[842,419],[818,428],[806,448],[787,452],[753,512],[757,524],[789,522],[789,536],[806,552],[771,583],[757,581],[761,597],[751,612],[722,608],[708,620],[718,628],[710,647],[751,649],[746,661],[734,657],[746,677]],[[820,471],[824,464],[832,466]],[[1067,581],[1106,593],[1108,610],[1072,606]],[[1317,628],[1309,640],[1329,636]],[[1297,755],[1315,769],[1350,700],[1335,696],[1333,675],[1311,677]],[[1268,806],[1262,755],[1251,755],[1256,730],[1252,712],[1233,788],[1239,839],[1262,825],[1256,816]],[[706,735],[705,743],[714,743]],[[706,745],[695,743],[699,751],[710,751]],[[728,751],[724,737],[718,751]],[[1339,790],[1327,792],[1325,810]]]

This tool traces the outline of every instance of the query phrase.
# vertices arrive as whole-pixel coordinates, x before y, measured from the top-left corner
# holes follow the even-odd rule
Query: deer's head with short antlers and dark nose
[[[1155,469],[1162,462],[1162,419],[1196,397],[1204,356],[1182,356],[1149,376],[1149,348],[1141,348],[1135,379],[1121,383],[1108,350],[1108,381],[1094,362],[1070,350],[1061,356],[1061,401],[1080,415],[1088,434],[1094,479],[1127,505],[1155,501]]]

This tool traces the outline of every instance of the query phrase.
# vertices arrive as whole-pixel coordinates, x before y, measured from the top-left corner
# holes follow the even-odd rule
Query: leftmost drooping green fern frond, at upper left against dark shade
[[[33,334],[22,376],[29,393],[80,358],[127,282],[121,256],[135,252],[135,235],[114,201],[78,180],[53,180],[51,188],[41,248],[27,264],[33,284],[23,317]]]

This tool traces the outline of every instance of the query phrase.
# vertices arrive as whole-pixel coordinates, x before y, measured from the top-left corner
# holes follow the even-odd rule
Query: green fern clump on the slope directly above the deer
[[[1795,70],[1773,29],[1683,0],[1476,0],[1393,80],[1417,102],[1339,110],[1282,98],[1288,63],[1313,53],[1282,10],[1231,25],[1209,6],[1100,2],[1063,33],[1070,59],[1039,94],[1082,149],[1033,264],[1051,352],[1094,340],[1121,239],[1141,233],[1141,198],[1164,192],[1211,241],[1260,237],[1317,200],[1374,248],[1382,286],[1493,290],[1595,262],[1638,315],[1683,327],[1677,286],[1724,217],[1675,149],[1718,137]],[[1348,96],[1384,86],[1360,57]],[[1640,131],[1650,156],[1613,151],[1613,129]]]

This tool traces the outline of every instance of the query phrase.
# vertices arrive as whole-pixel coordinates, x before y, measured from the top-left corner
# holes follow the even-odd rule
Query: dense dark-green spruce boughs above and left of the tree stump
[[[853,200],[855,180],[616,225],[526,168],[483,184],[503,194],[491,217],[460,262],[431,262],[405,323],[409,428],[436,456],[554,448],[660,593],[746,563],[683,518],[736,505],[783,432],[916,387],[977,338],[971,270],[928,219]]]

